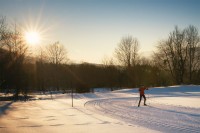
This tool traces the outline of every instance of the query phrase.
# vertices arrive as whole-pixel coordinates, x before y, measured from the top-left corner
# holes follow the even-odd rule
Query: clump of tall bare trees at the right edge
[[[155,52],[155,62],[171,73],[175,83],[192,81],[193,72],[199,69],[199,36],[194,26],[180,30],[177,26],[167,40],[162,40]]]

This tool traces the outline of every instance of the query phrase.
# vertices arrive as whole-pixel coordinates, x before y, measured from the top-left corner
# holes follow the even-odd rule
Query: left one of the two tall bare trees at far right
[[[187,44],[184,42],[184,32],[180,31],[178,27],[170,33],[168,40],[163,41],[157,47],[159,52],[157,54],[158,60],[162,65],[167,65],[167,69],[171,72],[172,77],[176,83],[183,82],[183,75],[186,67]]]

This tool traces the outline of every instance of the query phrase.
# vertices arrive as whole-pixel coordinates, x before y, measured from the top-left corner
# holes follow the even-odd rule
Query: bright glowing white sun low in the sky
[[[38,32],[30,31],[25,33],[25,40],[31,45],[38,44],[40,42],[40,35]]]

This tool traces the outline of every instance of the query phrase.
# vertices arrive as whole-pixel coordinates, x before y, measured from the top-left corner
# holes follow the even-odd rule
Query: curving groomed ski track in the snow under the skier
[[[126,123],[161,132],[200,133],[200,109],[159,103],[137,107],[137,98],[110,98],[88,101],[85,107]],[[136,104],[136,105],[133,105]]]

